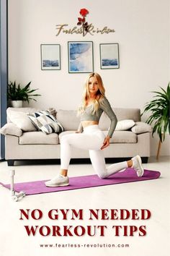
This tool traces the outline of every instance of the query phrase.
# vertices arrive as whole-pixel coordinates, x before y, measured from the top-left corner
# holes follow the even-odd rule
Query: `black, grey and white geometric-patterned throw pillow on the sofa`
[[[46,135],[53,132],[60,133],[64,130],[62,125],[50,114],[49,111],[38,111],[34,114],[28,115],[28,117],[31,119],[32,124]]]

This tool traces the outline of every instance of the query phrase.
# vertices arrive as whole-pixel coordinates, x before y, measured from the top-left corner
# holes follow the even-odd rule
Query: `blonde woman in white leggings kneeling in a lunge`
[[[128,167],[133,167],[138,176],[143,176],[143,166],[139,155],[136,155],[129,161],[114,163],[107,168],[105,166],[103,149],[109,146],[109,140],[117,124],[117,117],[112,111],[104,93],[104,85],[99,74],[89,74],[84,88],[82,105],[79,108],[79,115],[81,117],[79,129],[75,134],[64,135],[61,138],[61,171],[54,179],[45,182],[47,187],[69,185],[67,174],[71,159],[71,146],[89,150],[94,171],[96,171],[101,179],[107,178]],[[109,116],[111,121],[106,137],[99,129],[99,119],[103,111]]]

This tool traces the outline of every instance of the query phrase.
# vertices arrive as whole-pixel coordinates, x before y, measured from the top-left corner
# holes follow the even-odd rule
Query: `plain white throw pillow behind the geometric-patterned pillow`
[[[32,124],[32,121],[27,116],[27,113],[24,113],[22,111],[9,111],[8,116],[10,121],[12,121],[13,124],[16,124],[17,127],[22,129],[24,132],[35,132],[37,131],[34,124]]]

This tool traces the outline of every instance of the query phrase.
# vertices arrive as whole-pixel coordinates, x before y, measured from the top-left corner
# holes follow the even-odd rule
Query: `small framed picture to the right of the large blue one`
[[[118,43],[100,43],[100,68],[119,69],[119,45]]]

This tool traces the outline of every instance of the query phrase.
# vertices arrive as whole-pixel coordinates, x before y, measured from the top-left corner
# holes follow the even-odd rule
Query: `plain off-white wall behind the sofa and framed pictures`
[[[95,27],[108,26],[108,35],[55,36],[55,25],[76,25],[79,10]],[[81,101],[86,74],[68,74],[68,41],[94,42],[94,71],[104,80],[112,106],[143,110],[152,90],[169,82],[169,0],[9,0],[9,80],[40,88],[30,106],[75,109]],[[40,44],[61,44],[61,70],[42,71]],[[100,69],[99,43],[119,43],[120,69]],[[143,117],[145,119],[145,116]],[[161,154],[169,155],[169,135]],[[151,140],[156,154],[158,138]]]

